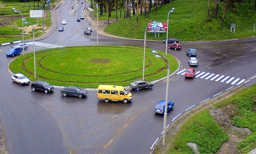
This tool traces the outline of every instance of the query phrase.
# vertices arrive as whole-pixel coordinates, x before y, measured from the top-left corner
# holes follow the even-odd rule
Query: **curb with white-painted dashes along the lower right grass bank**
[[[253,77],[252,79],[254,79],[254,78],[256,78],[256,76]],[[249,81],[250,81],[250,80],[244,82],[243,84],[245,84],[245,83],[247,83],[247,82],[249,82]],[[171,121],[170,124],[167,124],[167,125],[166,125],[165,131],[167,131],[167,128],[168,128],[169,126],[172,126],[172,125],[173,125],[173,122],[174,122],[175,120],[178,120],[178,117],[179,117],[180,115],[185,114],[185,113],[187,113],[188,111],[192,111],[193,108],[198,107],[198,106],[200,106],[200,105],[202,105],[202,104],[206,104],[208,100],[211,100],[211,99],[217,98],[217,97],[220,98],[220,95],[225,94],[225,93],[228,92],[228,91],[232,91],[232,90],[234,90],[234,89],[236,89],[236,88],[239,88],[240,86],[243,86],[243,84],[239,84],[239,85],[236,85],[236,86],[232,86],[232,87],[230,87],[230,88],[228,88],[228,89],[226,89],[226,90],[224,90],[224,91],[222,91],[222,92],[220,92],[220,93],[218,93],[218,94],[213,95],[211,98],[207,98],[207,99],[205,99],[205,100],[200,101],[200,102],[197,103],[197,104],[194,104],[194,105],[188,107],[188,108],[185,109],[183,112],[177,114],[177,115],[172,119],[172,121]],[[162,138],[162,134],[163,134],[163,131],[160,133],[160,136],[159,136],[159,137],[153,142],[153,144],[150,146],[149,154],[152,154],[152,153],[153,153],[154,147],[158,144],[158,142],[160,142],[160,139]]]

